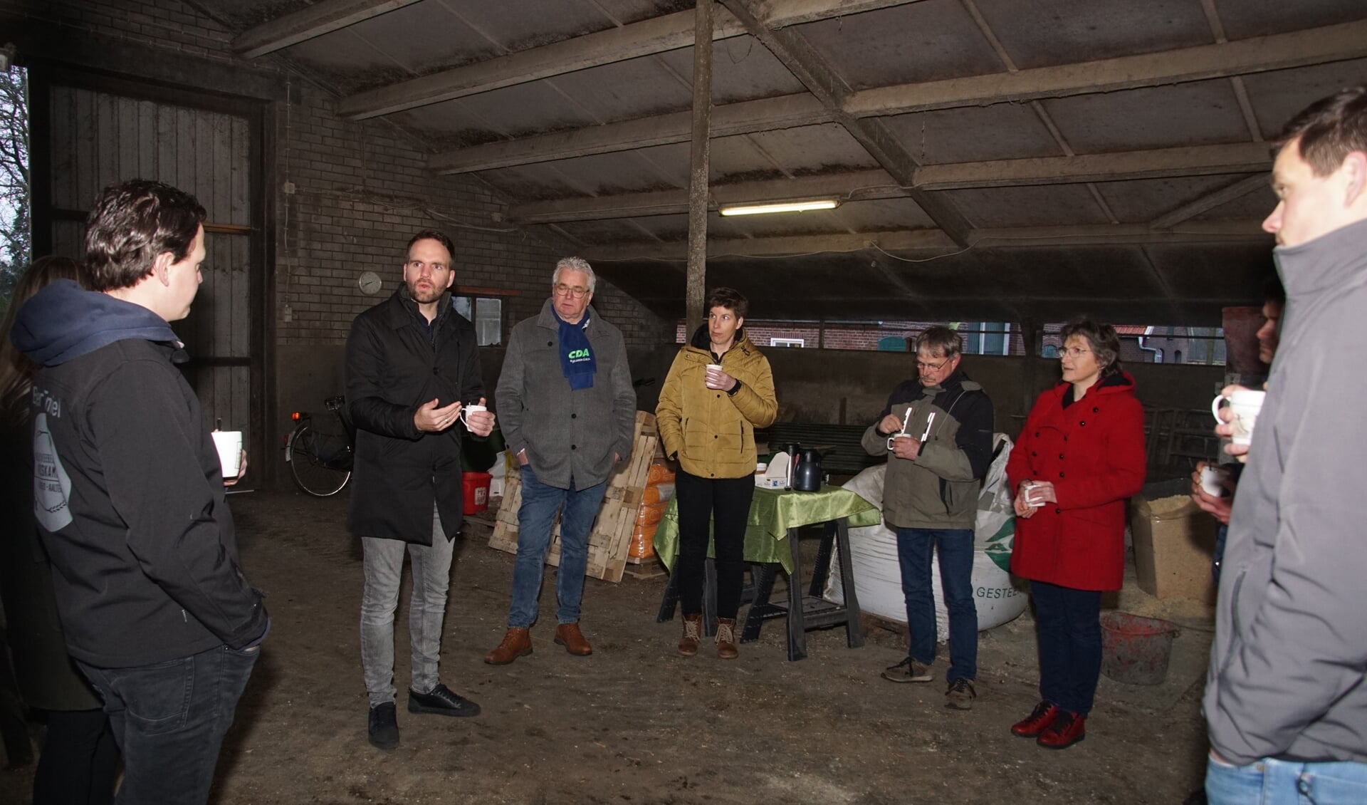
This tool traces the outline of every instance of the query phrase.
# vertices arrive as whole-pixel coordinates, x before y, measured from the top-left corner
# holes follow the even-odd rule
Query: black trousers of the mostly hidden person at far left
[[[33,775],[33,805],[108,805],[119,746],[103,709],[42,711],[48,738]]]

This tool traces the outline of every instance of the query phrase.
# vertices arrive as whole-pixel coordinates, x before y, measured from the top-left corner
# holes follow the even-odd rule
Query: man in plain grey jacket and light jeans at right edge
[[[1275,144],[1281,349],[1229,523],[1206,683],[1210,802],[1367,802],[1367,86]]]

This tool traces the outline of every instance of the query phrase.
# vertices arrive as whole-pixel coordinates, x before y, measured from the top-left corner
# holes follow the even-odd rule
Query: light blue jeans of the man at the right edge
[[[1207,760],[1206,800],[1210,805],[1360,805],[1367,802],[1367,764]]]

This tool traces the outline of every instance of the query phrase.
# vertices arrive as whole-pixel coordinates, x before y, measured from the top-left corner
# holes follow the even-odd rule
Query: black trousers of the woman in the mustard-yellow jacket
[[[679,511],[679,603],[685,615],[703,612],[708,526],[714,526],[716,616],[735,618],[745,585],[745,522],[755,497],[755,478],[700,478],[682,469],[674,478]],[[709,522],[711,521],[711,522]]]

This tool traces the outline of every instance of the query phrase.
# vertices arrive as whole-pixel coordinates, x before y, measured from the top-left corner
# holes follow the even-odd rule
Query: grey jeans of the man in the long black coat
[[[432,511],[432,545],[362,537],[365,595],[361,597],[361,666],[370,707],[394,701],[394,611],[399,607],[403,551],[413,564],[413,597],[409,601],[409,644],[413,651],[411,690],[429,693],[442,681],[442,620],[446,590],[451,585],[451,548],[442,532],[442,518]]]

